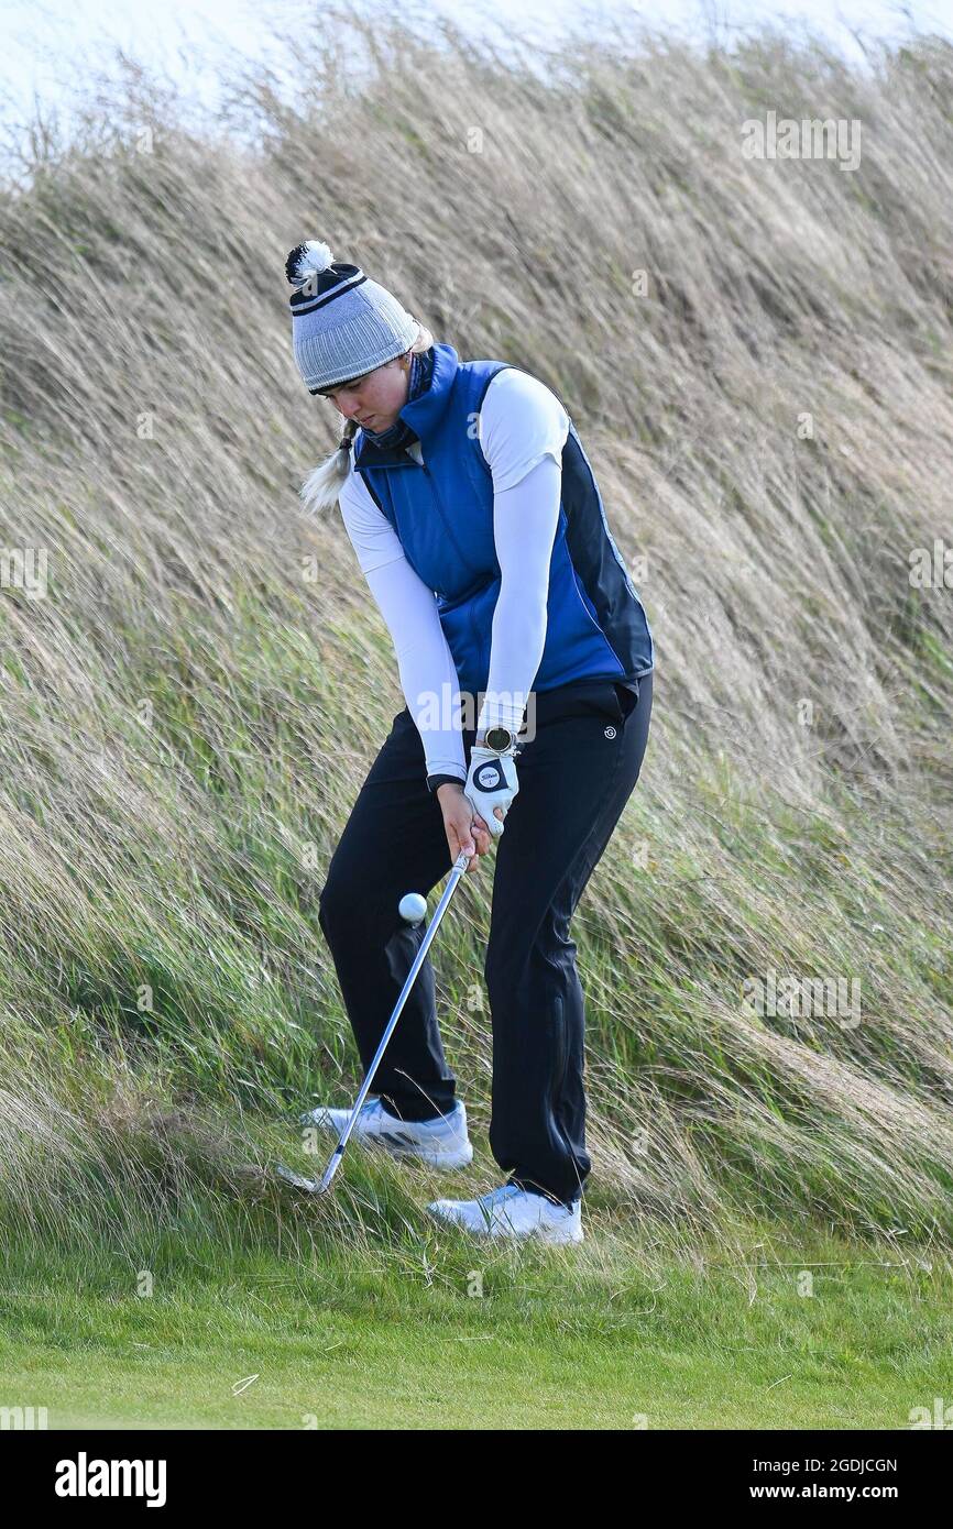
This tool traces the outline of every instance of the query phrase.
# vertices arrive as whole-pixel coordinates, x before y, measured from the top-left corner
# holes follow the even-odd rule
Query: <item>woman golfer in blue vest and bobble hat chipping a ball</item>
[[[505,1183],[436,1200],[491,1237],[580,1242],[583,989],[569,920],[638,780],[653,644],[560,399],[505,361],[460,361],[327,245],[286,261],[294,355],[344,416],[304,503],[340,502],[390,630],[407,706],[361,787],[320,924],[364,1067],[419,950],[398,902],[497,841],[485,979],[490,1145]],[[505,829],[503,829],[505,821]],[[355,1136],[439,1168],[473,1157],[421,966]],[[335,1135],[347,1112],[309,1122]]]

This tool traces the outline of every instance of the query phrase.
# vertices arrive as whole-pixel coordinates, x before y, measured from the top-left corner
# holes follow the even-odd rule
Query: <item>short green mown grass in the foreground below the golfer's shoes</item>
[[[750,1231],[708,1264],[606,1225],[520,1252],[411,1226],[363,1257],[182,1252],[150,1298],[102,1252],[14,1264],[3,1401],[52,1428],[895,1430],[953,1394],[948,1269],[896,1248]]]

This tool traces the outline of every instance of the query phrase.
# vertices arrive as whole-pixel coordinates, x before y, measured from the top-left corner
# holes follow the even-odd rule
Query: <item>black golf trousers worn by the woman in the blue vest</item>
[[[636,683],[638,697],[613,680],[537,693],[535,735],[517,757],[520,789],[485,858],[496,862],[483,963],[493,1018],[490,1145],[509,1182],[566,1205],[590,1168],[584,1006],[569,920],[641,769],[652,674]],[[463,731],[468,761],[474,735]],[[364,1069],[427,931],[428,919],[404,924],[398,902],[405,891],[427,896],[451,864],[421,735],[405,708],[358,794],[320,899]],[[407,1121],[453,1109],[456,1081],[441,1044],[430,954],[373,1087]]]

